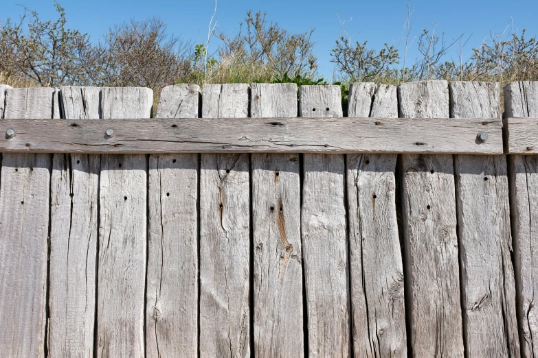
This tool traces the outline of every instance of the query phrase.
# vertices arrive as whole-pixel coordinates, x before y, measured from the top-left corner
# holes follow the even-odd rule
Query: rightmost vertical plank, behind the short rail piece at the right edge
[[[506,117],[538,117],[538,82],[513,82],[504,86]],[[513,129],[509,122],[510,144]],[[538,156],[508,156],[517,319],[523,357],[538,356]]]

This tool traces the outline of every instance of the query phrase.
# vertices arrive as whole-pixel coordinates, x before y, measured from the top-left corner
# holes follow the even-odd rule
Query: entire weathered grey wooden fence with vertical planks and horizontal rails
[[[537,357],[538,82],[499,91],[0,85],[0,356]]]

